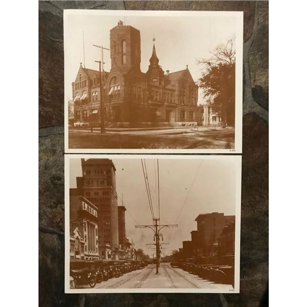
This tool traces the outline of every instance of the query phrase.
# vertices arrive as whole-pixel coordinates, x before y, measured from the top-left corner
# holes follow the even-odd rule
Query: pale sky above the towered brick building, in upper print
[[[72,97],[71,83],[75,81],[80,62],[83,61],[83,34],[85,67],[98,70],[95,60],[101,59],[101,50],[92,45],[109,48],[109,30],[125,19],[141,33],[141,71],[146,72],[152,53],[152,38],[160,65],[164,71],[183,70],[188,65],[196,82],[201,77],[202,66],[198,59],[210,58],[210,52],[235,35],[235,17],[228,16],[103,16],[69,14],[65,49],[65,100]],[[99,11],[98,11],[99,12]],[[97,13],[98,14],[98,13]],[[109,51],[104,51],[104,70],[111,69]],[[83,63],[84,64],[84,63]],[[203,103],[202,90],[199,102]]]

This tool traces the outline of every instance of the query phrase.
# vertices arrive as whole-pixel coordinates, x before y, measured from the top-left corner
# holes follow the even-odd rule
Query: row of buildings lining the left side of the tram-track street
[[[81,167],[82,177],[70,189],[70,257],[137,259],[126,238],[126,208],[118,205],[112,160],[81,159]]]

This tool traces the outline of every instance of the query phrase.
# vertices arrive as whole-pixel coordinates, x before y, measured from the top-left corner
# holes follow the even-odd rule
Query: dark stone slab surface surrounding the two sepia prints
[[[244,11],[239,294],[64,294],[63,9]],[[39,2],[39,305],[267,306],[269,55],[266,1]]]

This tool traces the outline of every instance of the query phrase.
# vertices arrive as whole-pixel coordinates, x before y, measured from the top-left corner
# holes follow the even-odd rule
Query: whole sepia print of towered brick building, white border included
[[[65,152],[242,153],[243,12],[64,10]]]

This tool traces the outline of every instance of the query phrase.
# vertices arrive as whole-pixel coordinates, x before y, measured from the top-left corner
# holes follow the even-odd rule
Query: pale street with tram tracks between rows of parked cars
[[[82,287],[83,288],[83,287]],[[84,288],[90,288],[84,286]],[[118,278],[97,283],[96,289],[221,289],[225,292],[233,289],[231,284],[218,284],[204,280],[188,272],[172,268],[169,263],[160,264],[159,274],[156,265],[148,265],[144,269],[126,273]]]

